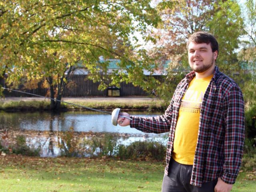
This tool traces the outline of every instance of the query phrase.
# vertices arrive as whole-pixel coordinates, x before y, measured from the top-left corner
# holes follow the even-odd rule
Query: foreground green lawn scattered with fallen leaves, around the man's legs
[[[160,192],[163,162],[0,156],[0,191]],[[254,192],[256,172],[240,172],[232,192]]]

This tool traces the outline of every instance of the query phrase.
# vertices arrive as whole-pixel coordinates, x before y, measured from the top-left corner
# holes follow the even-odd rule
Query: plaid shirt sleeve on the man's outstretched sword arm
[[[132,120],[130,122],[131,128],[136,128],[146,133],[164,133],[170,131],[170,126],[172,122],[172,103],[173,99],[166,109],[165,113],[160,116],[155,117],[138,117],[131,116]]]

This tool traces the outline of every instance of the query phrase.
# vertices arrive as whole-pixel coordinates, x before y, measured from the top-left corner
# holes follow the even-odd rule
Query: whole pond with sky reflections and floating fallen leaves
[[[158,115],[129,113],[136,116]],[[40,148],[40,156],[55,157],[74,146],[88,148],[88,140],[102,142],[106,140],[106,137],[115,140],[117,144],[124,145],[138,140],[152,140],[166,144],[168,133],[149,134],[130,128],[130,126],[114,126],[111,122],[111,115],[98,112],[1,112],[1,145],[12,146],[20,140],[21,136],[30,148]]]

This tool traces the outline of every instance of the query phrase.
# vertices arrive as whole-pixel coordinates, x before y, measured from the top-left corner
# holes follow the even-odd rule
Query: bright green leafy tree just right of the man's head
[[[217,65],[226,74],[233,76],[234,72],[240,70],[236,50],[242,36],[240,28],[244,25],[241,8],[236,1],[226,0],[214,4],[214,10],[207,26],[219,43]]]

